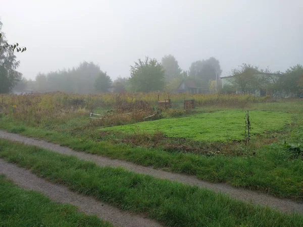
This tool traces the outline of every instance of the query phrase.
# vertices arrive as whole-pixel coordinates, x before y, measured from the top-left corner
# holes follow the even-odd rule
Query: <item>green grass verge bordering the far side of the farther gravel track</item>
[[[303,125],[303,123],[302,123]],[[291,158],[287,147],[263,146],[256,155],[216,155],[207,157],[189,153],[170,153],[160,149],[130,147],[106,141],[95,142],[90,138],[79,138],[68,133],[47,131],[43,128],[27,127],[24,123],[8,117],[0,118],[0,128],[25,136],[45,139],[77,151],[124,159],[141,165],[161,167],[176,173],[196,175],[199,179],[226,182],[236,187],[255,189],[282,198],[303,198],[303,161]],[[297,128],[303,129],[303,127]],[[296,133],[303,136],[303,131]]]

